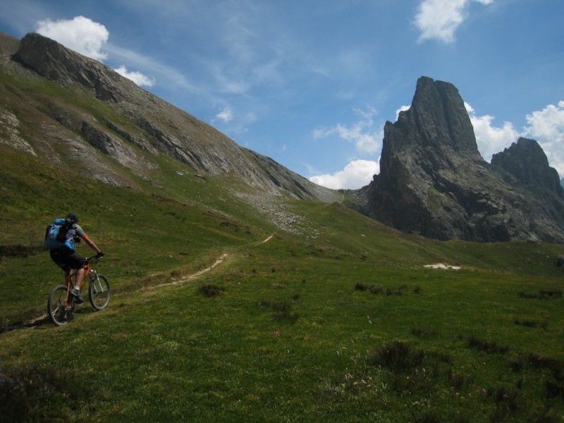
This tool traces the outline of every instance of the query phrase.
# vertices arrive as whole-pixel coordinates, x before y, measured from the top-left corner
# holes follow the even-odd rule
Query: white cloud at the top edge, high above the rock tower
[[[455,41],[455,32],[467,18],[466,8],[472,2],[491,4],[494,0],[423,0],[415,16],[415,26],[421,35],[419,42],[438,39],[445,43]]]

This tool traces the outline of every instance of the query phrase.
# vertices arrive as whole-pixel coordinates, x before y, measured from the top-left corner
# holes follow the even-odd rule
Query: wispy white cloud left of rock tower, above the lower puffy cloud
[[[360,116],[360,121],[357,123],[354,123],[352,126],[338,123],[333,128],[316,129],[313,133],[314,138],[319,139],[337,135],[345,141],[354,143],[359,152],[368,154],[379,152],[384,130],[383,128],[379,128],[376,131],[372,130],[376,110],[370,107],[366,111],[357,109],[355,113]]]

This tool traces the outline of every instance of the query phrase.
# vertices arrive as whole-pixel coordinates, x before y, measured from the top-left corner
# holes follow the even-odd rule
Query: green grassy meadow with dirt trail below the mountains
[[[236,180],[166,159],[142,190],[6,147],[0,165],[3,421],[564,421],[560,245],[424,240],[278,199],[284,231]],[[71,211],[113,295],[56,327],[42,238]]]

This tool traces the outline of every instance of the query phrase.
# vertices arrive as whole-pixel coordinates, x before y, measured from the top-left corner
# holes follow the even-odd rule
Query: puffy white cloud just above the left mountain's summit
[[[76,16],[71,20],[39,20],[36,32],[92,59],[104,61],[107,58],[102,48],[108,41],[108,30],[84,16]]]

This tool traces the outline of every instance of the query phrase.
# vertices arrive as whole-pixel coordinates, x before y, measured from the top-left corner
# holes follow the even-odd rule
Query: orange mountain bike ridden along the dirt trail
[[[86,278],[90,278],[90,285],[88,286],[88,298],[90,304],[95,310],[102,310],[108,307],[111,296],[111,287],[106,276],[97,273],[92,269],[92,264],[97,263],[102,257],[93,256],[85,258],[85,276],[82,278],[80,290],[85,286]],[[49,293],[49,300],[47,300],[47,312],[49,318],[57,326],[67,324],[74,317],[75,307],[79,304],[75,296],[71,294],[73,289],[73,276],[74,273],[67,274],[66,285],[59,285],[51,290]]]

